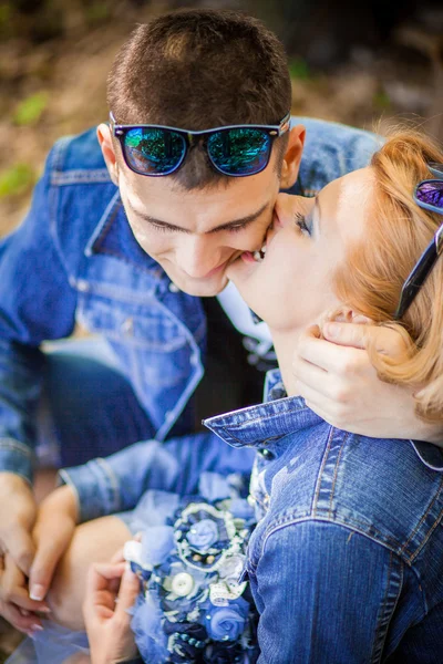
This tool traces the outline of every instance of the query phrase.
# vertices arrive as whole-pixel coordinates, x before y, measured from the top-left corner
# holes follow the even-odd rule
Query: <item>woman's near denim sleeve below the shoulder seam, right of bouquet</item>
[[[259,664],[380,662],[401,570],[388,549],[340,525],[277,528],[251,579]]]

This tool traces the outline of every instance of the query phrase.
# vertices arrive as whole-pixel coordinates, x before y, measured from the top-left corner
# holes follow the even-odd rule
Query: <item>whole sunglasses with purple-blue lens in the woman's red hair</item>
[[[443,215],[443,164],[431,163],[427,167],[435,177],[433,179],[422,180],[416,185],[414,190],[414,201],[419,207],[425,210]],[[394,313],[394,320],[403,318],[442,252],[443,224],[435,232],[427,248],[423,251],[404,282],[400,301]]]

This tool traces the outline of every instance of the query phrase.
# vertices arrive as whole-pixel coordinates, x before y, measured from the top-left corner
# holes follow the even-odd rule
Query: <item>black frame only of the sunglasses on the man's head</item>
[[[198,132],[192,132],[188,129],[182,129],[178,127],[171,127],[167,125],[156,125],[156,124],[140,124],[140,125],[121,125],[121,124],[116,124],[115,117],[111,111],[110,113],[110,127],[112,129],[113,135],[115,136],[115,138],[117,138],[121,149],[122,149],[122,154],[123,154],[123,158],[124,162],[126,164],[126,166],[130,168],[130,170],[132,170],[133,173],[136,173],[137,175],[144,175],[146,177],[164,177],[166,175],[172,175],[173,173],[176,173],[178,170],[178,168],[181,168],[181,166],[183,165],[183,163],[186,159],[186,156],[189,152],[189,147],[193,144],[193,142],[195,139],[197,141],[203,141],[203,145],[205,146],[206,149],[206,154],[208,156],[208,159],[213,166],[213,168],[215,168],[216,170],[218,170],[218,173],[222,173],[223,175],[227,175],[229,177],[248,177],[250,175],[257,175],[257,173],[261,173],[261,170],[265,170],[265,168],[267,167],[267,165],[269,164],[269,158],[270,158],[270,154],[272,152],[272,143],[275,138],[278,138],[279,136],[282,136],[282,134],[285,134],[286,132],[289,131],[290,127],[290,112],[288,112],[285,117],[281,120],[281,122],[278,125],[259,125],[259,124],[255,124],[255,125],[249,125],[249,124],[239,124],[239,125],[225,125],[222,127],[214,127],[212,129],[203,129],[203,131],[198,131]],[[174,132],[176,134],[179,134],[183,138],[184,138],[184,145],[185,148],[183,151],[183,155],[181,157],[181,159],[178,160],[178,163],[169,170],[165,172],[165,173],[143,173],[142,170],[136,170],[130,163],[126,156],[126,148],[125,148],[125,136],[127,134],[128,131],[131,129],[165,129],[167,132]],[[214,163],[207,147],[206,147],[206,138],[208,136],[212,136],[213,134],[219,133],[219,132],[228,132],[230,129],[259,129],[265,132],[270,138],[270,145],[269,145],[269,151],[268,151],[268,155],[267,155],[267,159],[266,163],[264,165],[260,166],[259,169],[254,170],[253,173],[239,173],[239,174],[233,174],[229,173],[223,168],[220,168],[219,166],[217,166],[217,164]]]

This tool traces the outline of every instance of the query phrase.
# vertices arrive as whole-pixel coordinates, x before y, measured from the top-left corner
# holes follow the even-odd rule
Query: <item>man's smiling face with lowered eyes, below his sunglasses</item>
[[[260,249],[272,219],[279,178],[261,173],[216,188],[184,190],[173,177],[120,169],[120,191],[135,239],[192,295],[215,295],[243,251]]]

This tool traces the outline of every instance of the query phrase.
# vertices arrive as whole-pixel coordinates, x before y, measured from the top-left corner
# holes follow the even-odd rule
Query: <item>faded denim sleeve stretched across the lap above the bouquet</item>
[[[202,473],[250,474],[255,452],[235,449],[212,433],[146,440],[106,458],[60,471],[78,499],[80,522],[135,507],[147,489],[195,494]]]

